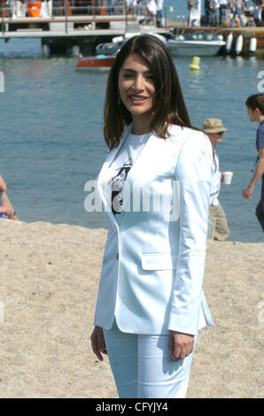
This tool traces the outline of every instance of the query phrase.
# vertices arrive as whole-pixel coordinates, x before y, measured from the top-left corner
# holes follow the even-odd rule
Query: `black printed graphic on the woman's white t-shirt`
[[[132,160],[128,158],[128,161],[117,169],[118,173],[109,181],[112,189],[111,207],[113,215],[120,214],[122,211],[124,182],[127,179],[131,166]]]

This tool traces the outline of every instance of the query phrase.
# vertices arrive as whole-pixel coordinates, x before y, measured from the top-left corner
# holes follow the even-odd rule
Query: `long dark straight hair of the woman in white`
[[[180,81],[167,47],[155,36],[134,36],[120,49],[107,81],[104,135],[111,150],[118,146],[124,127],[132,121],[131,113],[120,101],[118,81],[120,68],[128,56],[133,54],[139,55],[150,66],[154,75],[156,93],[152,107],[151,131],[165,139],[169,123],[191,127]]]

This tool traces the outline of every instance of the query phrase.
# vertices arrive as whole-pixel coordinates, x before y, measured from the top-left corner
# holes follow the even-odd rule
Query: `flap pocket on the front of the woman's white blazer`
[[[176,268],[175,252],[144,253],[142,254],[142,268],[144,270],[172,270]]]

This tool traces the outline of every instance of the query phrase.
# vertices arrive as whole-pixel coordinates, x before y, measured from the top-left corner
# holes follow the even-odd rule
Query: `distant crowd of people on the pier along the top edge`
[[[186,0],[189,11],[189,26],[263,26],[264,25],[264,0],[252,0],[253,6],[249,6],[249,0],[205,0],[204,11],[200,17],[198,0]],[[9,0],[4,5],[4,17],[47,17],[48,15],[78,15],[96,14],[111,15],[144,15],[144,23],[147,25],[162,27],[162,15],[164,16],[164,0],[53,0],[41,1],[39,12],[28,10],[26,0]],[[51,5],[50,5],[51,4]],[[174,5],[174,3],[172,2]],[[0,5],[0,6],[1,6]],[[170,8],[173,8],[173,5]],[[177,4],[175,4],[177,12]],[[33,13],[33,14],[32,14]],[[37,14],[35,14],[37,13]],[[164,23],[163,23],[164,24]]]

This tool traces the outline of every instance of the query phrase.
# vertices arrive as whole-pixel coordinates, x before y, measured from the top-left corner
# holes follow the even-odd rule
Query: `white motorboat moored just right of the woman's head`
[[[221,36],[211,32],[185,33],[167,39],[167,48],[174,57],[213,57],[225,44]]]

